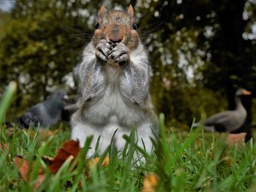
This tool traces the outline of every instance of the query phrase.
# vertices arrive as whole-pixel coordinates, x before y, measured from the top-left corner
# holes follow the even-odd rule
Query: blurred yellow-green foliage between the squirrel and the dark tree
[[[223,109],[224,102],[218,104],[221,96],[204,89],[202,73],[196,72],[208,62],[202,34],[212,23],[207,16],[210,2],[142,1],[138,8],[143,13],[139,31],[146,35],[143,39],[154,68],[152,93],[157,110],[165,112],[171,125],[182,122],[188,127],[193,118]]]

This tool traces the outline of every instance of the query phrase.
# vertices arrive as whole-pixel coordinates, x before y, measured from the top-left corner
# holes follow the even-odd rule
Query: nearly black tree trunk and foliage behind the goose
[[[235,109],[235,92],[246,88],[255,93],[255,50],[252,39],[246,39],[246,28],[252,26],[253,17],[247,9],[255,9],[255,2],[216,1],[213,4],[217,26],[214,36],[209,40],[208,53],[211,63],[203,70],[204,81],[214,90],[222,88],[227,93],[228,108]],[[248,29],[247,29],[248,31]],[[252,137],[252,97],[243,100],[247,111],[246,123],[239,130],[247,133],[246,140]]]

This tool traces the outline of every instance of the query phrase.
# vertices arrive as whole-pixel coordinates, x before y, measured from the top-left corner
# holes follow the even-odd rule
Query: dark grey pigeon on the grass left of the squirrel
[[[53,126],[61,118],[61,110],[64,107],[65,99],[67,99],[66,92],[54,92],[48,99],[34,105],[18,117],[18,126],[20,128],[29,128],[29,126],[45,128]]]

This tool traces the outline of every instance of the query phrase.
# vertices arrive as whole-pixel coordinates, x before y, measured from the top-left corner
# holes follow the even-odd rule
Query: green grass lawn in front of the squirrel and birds
[[[97,154],[85,159],[85,147],[72,164],[68,158],[56,174],[49,171],[44,159],[56,156],[69,139],[69,126],[40,131],[2,126],[0,191],[33,191],[39,169],[44,172],[44,180],[37,191],[146,191],[147,187],[155,191],[256,191],[255,144],[230,147],[224,142],[225,134],[204,133],[201,128],[178,131],[164,126],[163,115],[159,119],[161,137],[154,154],[144,153],[131,134],[125,137],[129,144],[125,153],[109,147],[98,164],[89,166]],[[143,153],[146,162],[135,164],[133,153]],[[32,164],[25,180],[13,160],[17,155]],[[102,165],[107,156],[109,162]]]

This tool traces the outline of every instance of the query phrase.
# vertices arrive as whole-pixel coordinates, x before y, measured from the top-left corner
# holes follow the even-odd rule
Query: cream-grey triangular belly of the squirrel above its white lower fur
[[[83,115],[91,123],[117,123],[123,126],[136,126],[146,118],[140,107],[124,101],[118,85],[112,83],[108,83],[101,99],[91,103]]]

